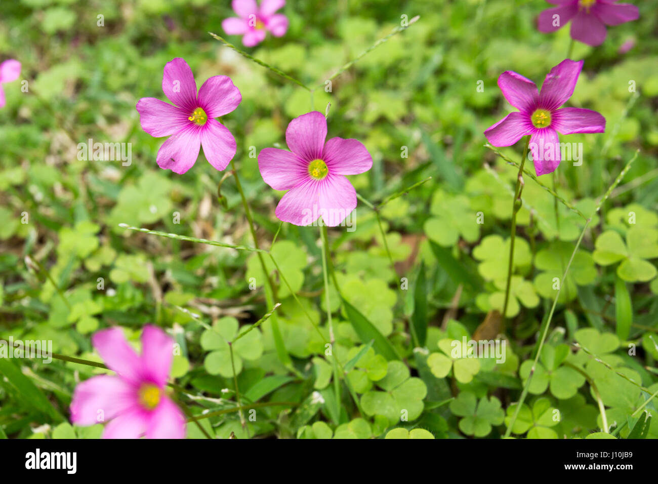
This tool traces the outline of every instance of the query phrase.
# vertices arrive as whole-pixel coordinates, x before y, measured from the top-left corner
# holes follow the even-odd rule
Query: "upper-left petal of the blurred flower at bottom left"
[[[128,344],[120,328],[103,329],[91,336],[91,342],[109,369],[133,383],[141,381],[143,378],[141,359]]]

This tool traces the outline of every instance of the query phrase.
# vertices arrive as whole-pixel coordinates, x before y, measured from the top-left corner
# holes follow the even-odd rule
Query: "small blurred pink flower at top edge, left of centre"
[[[265,31],[274,37],[281,37],[288,30],[288,18],[275,14],[286,5],[286,0],[263,0],[261,8],[256,0],[233,0],[233,11],[237,17],[225,18],[222,22],[224,32],[230,36],[242,36],[246,47],[253,47],[265,40]]]

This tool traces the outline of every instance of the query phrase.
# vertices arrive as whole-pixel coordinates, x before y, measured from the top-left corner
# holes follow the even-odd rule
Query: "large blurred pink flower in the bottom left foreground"
[[[141,356],[118,327],[99,331],[91,340],[117,375],[99,375],[80,383],[71,402],[71,421],[78,425],[109,421],[104,439],[185,437],[183,413],[164,393],[174,340],[155,326],[145,326]]]

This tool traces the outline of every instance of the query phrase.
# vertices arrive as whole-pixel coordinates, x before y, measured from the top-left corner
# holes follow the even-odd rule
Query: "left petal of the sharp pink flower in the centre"
[[[309,162],[285,149],[261,149],[258,167],[265,183],[274,190],[290,190],[309,178]]]

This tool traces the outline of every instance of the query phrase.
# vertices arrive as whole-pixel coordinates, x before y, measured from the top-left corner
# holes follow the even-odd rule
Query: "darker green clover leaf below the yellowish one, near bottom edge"
[[[505,412],[500,408],[500,400],[486,396],[478,402],[475,394],[461,392],[450,402],[450,412],[463,417],[459,420],[459,429],[466,435],[486,437],[492,431],[492,425],[500,425],[505,419]]]

